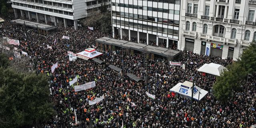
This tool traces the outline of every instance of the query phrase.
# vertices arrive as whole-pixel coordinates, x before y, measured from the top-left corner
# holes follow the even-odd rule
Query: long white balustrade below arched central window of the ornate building
[[[228,44],[236,45],[236,43],[237,43],[236,39],[222,38],[222,37],[211,36],[211,35],[202,34],[202,33],[200,33],[198,36],[199,36],[199,38],[204,38],[204,39],[208,39],[208,40],[224,42],[224,43],[228,43]]]

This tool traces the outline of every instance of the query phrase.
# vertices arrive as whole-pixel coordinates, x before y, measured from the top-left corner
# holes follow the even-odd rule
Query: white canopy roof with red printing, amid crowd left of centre
[[[102,55],[101,52],[97,52],[94,48],[87,48],[86,50],[76,54],[78,58],[88,60],[97,56]]]

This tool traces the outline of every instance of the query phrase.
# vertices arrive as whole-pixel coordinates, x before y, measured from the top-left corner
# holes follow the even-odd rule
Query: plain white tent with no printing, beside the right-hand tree
[[[212,74],[212,75],[215,75],[215,76],[220,76],[220,73],[224,69],[227,69],[227,68],[220,65],[220,64],[210,63],[210,64],[204,64],[197,71],[205,72],[205,73]]]

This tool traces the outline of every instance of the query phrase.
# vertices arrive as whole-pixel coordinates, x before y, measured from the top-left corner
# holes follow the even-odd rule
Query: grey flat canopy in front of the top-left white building
[[[38,29],[46,30],[46,31],[53,30],[53,29],[57,28],[56,26],[50,26],[47,24],[41,24],[41,23],[31,22],[28,20],[21,20],[21,19],[12,20],[11,22],[15,23],[15,24],[20,24],[20,25],[24,25],[24,23],[25,23],[26,26],[29,26],[32,28],[38,28]]]

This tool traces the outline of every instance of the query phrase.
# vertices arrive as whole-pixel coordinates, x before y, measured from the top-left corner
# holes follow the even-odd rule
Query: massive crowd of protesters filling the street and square
[[[249,128],[256,124],[256,74],[242,86],[245,88],[248,85],[247,92],[241,90],[228,103],[223,104],[212,95],[212,85],[216,78],[202,76],[197,72],[205,63],[214,62],[227,66],[232,63],[230,58],[222,60],[216,56],[183,51],[176,60],[186,64],[186,70],[183,70],[180,66],[171,66],[167,60],[148,58],[144,62],[141,54],[124,52],[123,55],[117,49],[101,51],[102,48],[96,45],[95,39],[110,35],[98,30],[91,31],[82,27],[74,30],[60,26],[57,32],[38,36],[28,28],[10,23],[12,17],[4,18],[6,22],[0,23],[0,38],[20,40],[19,49],[28,53],[33,70],[51,78],[51,98],[57,115],[42,124],[45,128],[68,128],[69,125],[73,128],[120,128],[122,124],[126,128]],[[62,36],[69,36],[70,40],[62,39]],[[66,44],[70,46],[67,47]],[[52,49],[47,48],[47,45],[52,46]],[[68,60],[68,50],[78,53],[88,47],[106,54],[106,59],[103,56],[98,58],[105,60],[107,65],[124,67],[125,74],[132,73],[144,79],[145,67],[148,66],[148,86],[138,85],[130,78],[119,76],[92,60]],[[58,68],[51,74],[50,67],[56,62]],[[73,86],[70,87],[68,82],[75,77],[78,82],[74,85],[95,80],[96,87],[74,92]],[[200,101],[198,112],[196,101],[190,109],[189,99],[172,96],[169,91],[178,82],[193,79],[197,86],[209,92]],[[156,99],[146,96],[146,91],[156,94]],[[89,106],[88,100],[103,94],[104,100]]]

